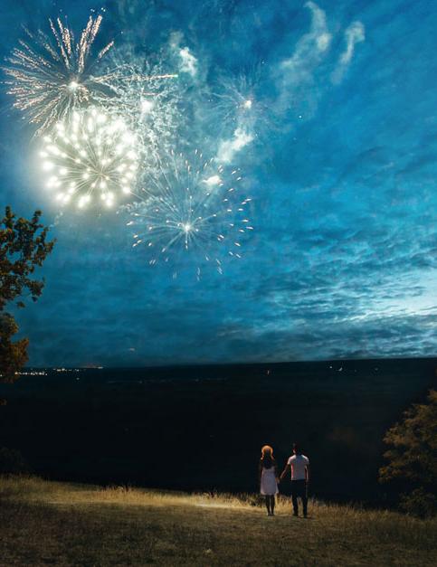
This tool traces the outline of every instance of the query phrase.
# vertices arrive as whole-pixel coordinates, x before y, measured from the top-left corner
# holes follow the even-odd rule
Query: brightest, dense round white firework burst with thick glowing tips
[[[43,137],[47,188],[61,204],[75,201],[111,206],[118,194],[131,194],[137,174],[136,140],[121,120],[101,110],[74,111]]]

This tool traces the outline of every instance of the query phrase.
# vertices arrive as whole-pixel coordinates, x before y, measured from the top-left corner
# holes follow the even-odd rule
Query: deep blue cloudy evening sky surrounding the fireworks
[[[429,356],[437,323],[437,7],[428,0],[5,0],[3,61],[25,25],[90,10],[100,40],[179,74],[163,145],[241,168],[254,231],[223,275],[195,251],[149,264],[126,212],[43,187],[38,140],[1,94],[1,203],[43,210],[57,244],[17,313],[33,365]],[[184,56],[185,54],[185,56]],[[164,56],[164,55],[163,55]],[[223,105],[250,91],[251,118]],[[182,117],[182,118],[181,118]],[[185,252],[185,250],[183,250]],[[199,254],[200,256],[200,254]],[[175,274],[177,276],[175,277]]]

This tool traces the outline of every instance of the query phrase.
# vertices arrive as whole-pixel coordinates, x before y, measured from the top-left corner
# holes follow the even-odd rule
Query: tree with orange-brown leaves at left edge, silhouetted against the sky
[[[47,241],[49,228],[40,218],[41,211],[30,221],[17,218],[6,207],[0,221],[0,382],[13,383],[28,360],[28,340],[13,341],[18,326],[5,307],[13,302],[24,307],[24,293],[36,301],[43,292],[44,279],[33,279],[33,273],[43,266],[54,241]]]

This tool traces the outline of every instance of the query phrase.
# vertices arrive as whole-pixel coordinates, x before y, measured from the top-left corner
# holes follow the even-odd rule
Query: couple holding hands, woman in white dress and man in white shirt
[[[276,460],[273,457],[273,449],[270,445],[264,445],[261,449],[260,477],[261,495],[265,496],[267,515],[274,515],[275,495],[278,494],[278,484],[290,469],[291,473],[291,501],[293,503],[293,515],[299,515],[298,497],[302,500],[303,516],[307,517],[309,483],[309,458],[302,455],[296,443],[293,444],[293,454],[287,461],[287,465],[278,477]]]

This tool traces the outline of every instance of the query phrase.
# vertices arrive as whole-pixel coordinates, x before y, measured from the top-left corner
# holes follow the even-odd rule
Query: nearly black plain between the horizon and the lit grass
[[[239,493],[258,492],[262,444],[282,467],[297,440],[312,496],[387,504],[382,439],[435,387],[436,368],[428,358],[27,369],[0,386],[0,446],[51,479]]]

